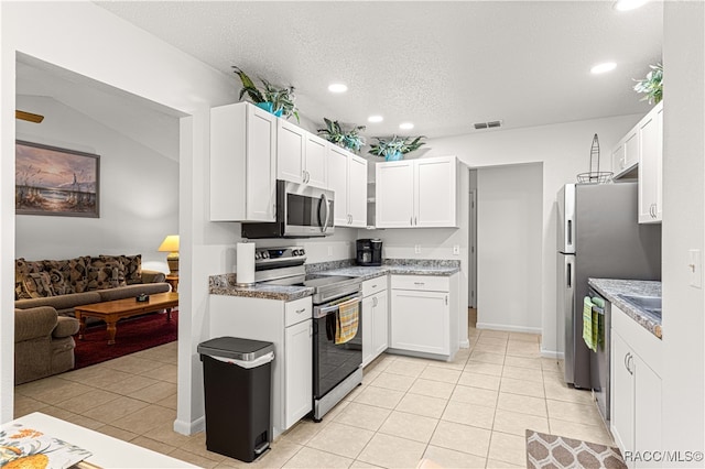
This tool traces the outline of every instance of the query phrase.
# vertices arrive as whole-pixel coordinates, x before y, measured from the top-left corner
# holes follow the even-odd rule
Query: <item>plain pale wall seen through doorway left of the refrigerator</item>
[[[477,327],[541,334],[541,163],[477,170]]]

